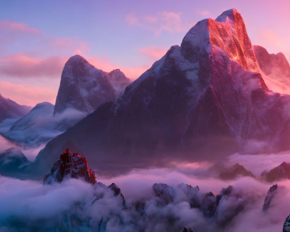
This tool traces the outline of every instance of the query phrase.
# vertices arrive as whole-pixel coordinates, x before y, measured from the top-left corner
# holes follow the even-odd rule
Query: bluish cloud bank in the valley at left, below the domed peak
[[[16,125],[13,130],[10,128],[14,126],[16,120],[4,120],[0,124],[0,133],[3,135],[0,134],[0,154],[8,148],[17,148],[24,153],[28,160],[34,161],[39,151],[50,139],[60,135],[88,115],[88,113],[75,109],[67,109],[54,116],[52,113],[53,106],[49,112],[44,111],[35,117],[26,115],[25,117],[28,119],[25,117],[20,119],[25,124],[21,122],[20,126]]]

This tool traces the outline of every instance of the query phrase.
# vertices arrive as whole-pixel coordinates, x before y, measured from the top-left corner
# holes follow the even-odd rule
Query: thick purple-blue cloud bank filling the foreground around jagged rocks
[[[113,178],[97,177],[97,181],[106,185],[115,182],[124,199],[116,188],[100,182],[91,185],[69,179],[43,185],[0,177],[0,231],[178,232],[189,226],[195,232],[272,232],[282,231],[290,214],[289,180],[278,182],[284,188],[280,188],[266,212],[262,212],[262,205],[271,184],[252,177],[226,182],[156,168]],[[152,188],[161,182],[168,186]],[[182,182],[193,188],[180,185]],[[222,188],[229,185],[233,186],[231,193],[222,193]],[[214,198],[206,194],[209,191],[215,196],[224,195]],[[211,203],[218,206],[212,209]]]

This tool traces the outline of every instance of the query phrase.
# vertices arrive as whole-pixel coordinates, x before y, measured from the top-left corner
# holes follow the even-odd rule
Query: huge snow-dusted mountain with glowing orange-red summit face
[[[288,150],[290,96],[263,76],[241,14],[227,10],[198,22],[124,95],[51,140],[34,165],[48,171],[67,141],[110,171]]]

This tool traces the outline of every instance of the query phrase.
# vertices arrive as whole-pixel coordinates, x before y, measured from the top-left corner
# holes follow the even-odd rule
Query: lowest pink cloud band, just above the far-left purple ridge
[[[57,89],[53,90],[32,84],[13,84],[0,81],[0,93],[18,104],[35,106],[40,102],[55,104]]]

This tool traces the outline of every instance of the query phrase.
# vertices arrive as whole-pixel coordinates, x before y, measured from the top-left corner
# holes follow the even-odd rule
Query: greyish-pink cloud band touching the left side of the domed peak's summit
[[[23,54],[0,57],[0,73],[4,77],[57,77],[61,76],[66,59],[54,56],[33,59]]]

